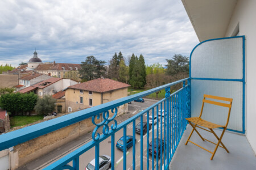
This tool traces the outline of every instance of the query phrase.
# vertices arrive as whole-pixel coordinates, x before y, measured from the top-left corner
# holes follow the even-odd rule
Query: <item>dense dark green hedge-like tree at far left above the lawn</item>
[[[30,94],[4,94],[0,97],[0,107],[6,109],[11,114],[31,112],[38,100],[34,93]]]

